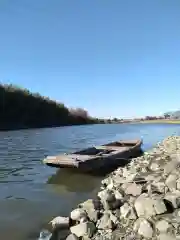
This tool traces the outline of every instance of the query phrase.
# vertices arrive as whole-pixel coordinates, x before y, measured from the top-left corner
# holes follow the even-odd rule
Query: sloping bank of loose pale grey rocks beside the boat
[[[58,240],[180,239],[180,137],[169,137],[102,181],[96,199],[51,221]],[[62,238],[61,229],[68,228]]]

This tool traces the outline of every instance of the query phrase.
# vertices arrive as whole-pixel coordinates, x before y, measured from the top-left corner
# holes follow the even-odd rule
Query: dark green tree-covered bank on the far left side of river
[[[11,84],[0,84],[0,99],[0,130],[99,123],[84,109],[68,109]]]

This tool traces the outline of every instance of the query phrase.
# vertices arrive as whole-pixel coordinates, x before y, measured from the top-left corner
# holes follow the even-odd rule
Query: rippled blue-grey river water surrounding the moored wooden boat
[[[119,139],[143,139],[143,149],[180,134],[180,125],[107,124],[0,132],[0,239],[35,240],[54,216],[92,197],[102,177],[56,170],[47,155]]]

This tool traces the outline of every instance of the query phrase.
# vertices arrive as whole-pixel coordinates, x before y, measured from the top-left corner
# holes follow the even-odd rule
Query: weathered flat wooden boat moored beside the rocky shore
[[[92,172],[124,165],[124,161],[140,155],[141,144],[142,140],[116,141],[73,153],[48,156],[43,162],[51,167]]]

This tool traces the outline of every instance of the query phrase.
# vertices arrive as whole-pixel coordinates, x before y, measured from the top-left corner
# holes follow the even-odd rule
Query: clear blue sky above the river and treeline
[[[179,0],[0,0],[0,81],[98,117],[180,108]]]

